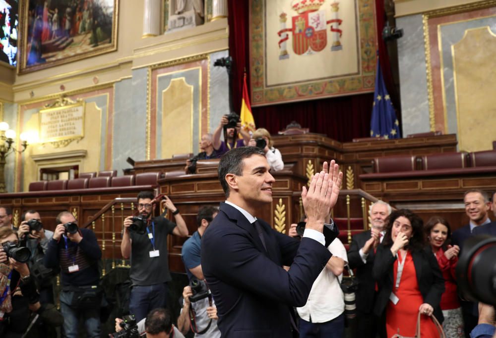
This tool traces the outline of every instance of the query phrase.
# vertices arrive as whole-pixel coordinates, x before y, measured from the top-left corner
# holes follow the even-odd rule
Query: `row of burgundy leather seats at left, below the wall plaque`
[[[132,186],[154,186],[163,178],[161,172],[147,172],[124,176],[97,176],[72,180],[37,181],[29,184],[29,192],[81,190],[100,188],[123,188]]]

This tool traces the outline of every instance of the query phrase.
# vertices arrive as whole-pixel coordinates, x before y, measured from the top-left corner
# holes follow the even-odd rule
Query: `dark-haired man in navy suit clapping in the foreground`
[[[219,163],[226,202],[202,237],[201,267],[215,299],[222,337],[291,337],[290,309],[306,304],[314,280],[331,257],[322,232],[341,187],[338,165],[331,161],[327,173],[324,163],[309,189],[303,187],[308,222],[302,241],[254,217],[257,209],[272,202],[275,180],[269,169],[263,150],[251,146],[228,151]]]

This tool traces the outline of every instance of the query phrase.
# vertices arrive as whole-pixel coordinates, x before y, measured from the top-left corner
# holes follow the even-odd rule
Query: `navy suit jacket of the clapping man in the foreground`
[[[307,303],[331,257],[315,240],[298,241],[258,222],[268,252],[254,225],[226,203],[220,203],[201,239],[201,269],[215,299],[222,337],[291,337],[289,309]]]

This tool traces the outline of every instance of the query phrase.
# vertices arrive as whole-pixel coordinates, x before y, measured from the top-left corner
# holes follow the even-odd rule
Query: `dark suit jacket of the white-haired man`
[[[350,250],[348,251],[348,264],[350,268],[357,269],[356,276],[360,283],[357,292],[355,292],[357,309],[364,313],[371,313],[373,309],[375,282],[372,278],[372,267],[375,255],[373,249],[371,249],[367,256],[367,263],[364,263],[359,251],[370,238],[370,230],[353,236]]]

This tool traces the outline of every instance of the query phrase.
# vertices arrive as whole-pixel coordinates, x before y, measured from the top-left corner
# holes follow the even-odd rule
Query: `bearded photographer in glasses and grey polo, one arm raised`
[[[136,321],[145,318],[153,309],[166,307],[167,282],[171,280],[167,236],[173,234],[186,237],[188,234],[183,217],[167,196],[164,196],[165,206],[174,215],[176,223],[163,216],[152,218],[154,197],[152,192],[138,193],[138,212],[146,220],[144,233],[130,230],[133,216],[124,220],[121,253],[125,259],[131,259],[129,312],[135,316]]]

